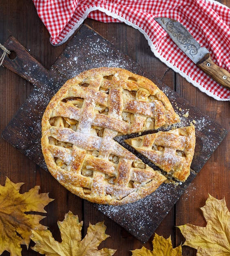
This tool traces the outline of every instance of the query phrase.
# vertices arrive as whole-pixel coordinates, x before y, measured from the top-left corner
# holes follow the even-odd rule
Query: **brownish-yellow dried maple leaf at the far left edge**
[[[39,194],[39,186],[21,194],[19,190],[23,184],[7,178],[5,186],[0,185],[0,254],[8,251],[13,256],[20,256],[21,245],[29,246],[31,229],[45,229],[39,223],[45,216],[26,212],[46,213],[44,207],[53,199],[48,193]]]

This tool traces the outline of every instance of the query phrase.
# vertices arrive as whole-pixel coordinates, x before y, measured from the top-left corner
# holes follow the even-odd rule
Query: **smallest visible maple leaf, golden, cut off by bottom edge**
[[[155,234],[153,238],[153,251],[146,249],[144,246],[141,249],[135,249],[132,252],[133,256],[182,256],[181,245],[173,248],[171,237],[165,239],[163,236]]]

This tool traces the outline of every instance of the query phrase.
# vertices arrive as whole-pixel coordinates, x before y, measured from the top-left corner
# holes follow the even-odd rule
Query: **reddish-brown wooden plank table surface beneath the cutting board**
[[[230,7],[230,0],[220,1]],[[133,27],[124,23],[102,23],[86,19],[88,24],[104,38],[113,43],[118,49],[133,58],[149,73],[156,76],[163,83],[178,92],[184,99],[196,106],[201,112],[219,123],[226,130],[230,130],[230,104],[228,101],[217,101],[207,96],[195,86],[188,83],[161,63],[150,51],[144,36]],[[39,19],[32,0],[1,0],[0,2],[0,43],[4,44],[9,36],[15,37],[44,67],[49,69],[61,54],[66,44],[52,46],[49,43],[49,33]],[[0,132],[4,130],[22,103],[29,97],[33,85],[11,72],[6,67],[0,67]],[[227,134],[208,162],[203,166],[186,192],[181,196],[173,209],[156,229],[158,235],[164,238],[171,236],[173,247],[184,241],[178,225],[186,223],[205,226],[201,210],[208,193],[217,199],[225,197],[230,208],[230,134]],[[53,202],[46,206],[47,218],[41,221],[49,227],[56,240],[60,240],[57,220],[63,220],[65,213],[72,211],[84,221],[83,236],[89,222],[95,224],[105,221],[106,234],[110,235],[100,248],[117,249],[115,255],[130,256],[130,250],[139,249],[144,245],[153,249],[151,238],[142,243],[110,218],[104,216],[93,205],[71,194],[62,187],[49,173],[34,164],[16,148],[0,139],[0,184],[4,185],[6,177],[15,183],[25,182],[21,193],[28,191],[35,185],[40,186],[40,193],[49,192]],[[31,245],[33,243],[31,242]],[[2,255],[9,255],[4,252]],[[22,246],[22,255],[40,255],[32,249],[27,251]],[[183,246],[183,255],[195,256],[196,250]]]

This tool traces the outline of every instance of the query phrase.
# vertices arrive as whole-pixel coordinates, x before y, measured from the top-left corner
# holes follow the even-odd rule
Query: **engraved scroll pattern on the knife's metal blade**
[[[185,51],[189,51],[191,56],[194,56],[198,53],[197,47],[191,43],[191,40],[186,37],[180,29],[174,27],[174,23],[172,21],[168,21],[166,23],[166,29],[172,33],[172,35],[177,38],[177,41],[183,45]]]

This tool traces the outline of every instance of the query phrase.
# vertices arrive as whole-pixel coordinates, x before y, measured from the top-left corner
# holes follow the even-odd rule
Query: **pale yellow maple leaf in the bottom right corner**
[[[218,200],[208,195],[201,210],[206,227],[178,226],[186,238],[184,245],[197,249],[197,256],[230,256],[230,212],[225,199]]]

